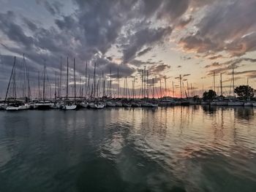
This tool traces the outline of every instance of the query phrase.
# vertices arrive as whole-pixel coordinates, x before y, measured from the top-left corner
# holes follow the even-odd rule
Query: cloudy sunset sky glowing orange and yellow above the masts
[[[93,74],[136,77],[146,66],[148,79],[178,86],[181,77],[199,94],[212,88],[213,72],[225,94],[232,69],[236,85],[256,88],[256,0],[0,0],[0,88],[7,89],[13,56],[17,70],[25,53],[31,86],[37,86],[44,59],[48,77],[59,75],[60,60],[76,59],[77,78],[88,62]],[[63,66],[63,67],[64,67]],[[66,69],[63,68],[65,71]],[[17,72],[18,73],[18,72]],[[19,76],[17,76],[18,78]],[[70,79],[72,82],[72,77]],[[163,84],[162,84],[163,85]],[[176,90],[178,94],[178,89]]]

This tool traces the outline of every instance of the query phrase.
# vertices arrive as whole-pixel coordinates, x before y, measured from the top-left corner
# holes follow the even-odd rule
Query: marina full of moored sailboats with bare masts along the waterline
[[[132,88],[129,88],[127,77],[123,78],[124,87],[119,85],[121,78],[118,75],[115,80],[112,78],[112,72],[110,69],[109,77],[107,80],[102,72],[102,78],[96,76],[97,66],[94,63],[94,75],[92,82],[90,83],[90,77],[87,78],[87,63],[86,63],[86,72],[85,72],[85,82],[84,84],[79,84],[77,90],[76,85],[76,72],[75,72],[75,58],[73,61],[73,82],[72,82],[72,93],[69,93],[69,58],[67,57],[67,78],[66,78],[66,96],[62,96],[63,85],[60,80],[63,79],[61,75],[62,71],[59,72],[60,77],[57,78],[57,72],[55,76],[55,83],[51,84],[47,88],[46,85],[46,76],[47,68],[46,62],[44,61],[44,69],[42,74],[42,82],[38,80],[38,88],[34,89],[34,97],[31,93],[29,75],[26,68],[25,55],[23,54],[23,89],[22,94],[23,98],[18,98],[16,77],[15,77],[15,65],[16,57],[14,57],[14,64],[12,66],[12,72],[10,74],[10,81],[7,87],[7,93],[5,99],[0,101],[0,110],[7,111],[18,111],[18,110],[50,110],[50,109],[61,109],[61,110],[78,110],[81,108],[91,108],[91,109],[103,109],[105,107],[170,107],[170,106],[189,106],[193,104],[201,105],[211,105],[211,106],[244,106],[244,107],[255,107],[256,106],[256,91],[247,85],[240,85],[240,87],[235,88],[235,76],[234,69],[232,71],[233,83],[233,95],[231,94],[231,85],[230,85],[230,94],[228,96],[223,96],[222,89],[222,73],[220,74],[220,93],[217,96],[215,92],[215,72],[214,72],[214,90],[209,90],[208,92],[203,92],[203,96],[195,95],[195,88],[192,88],[192,84],[189,87],[187,82],[187,87],[184,86],[184,82],[179,76],[179,87],[176,89],[173,86],[173,90],[167,88],[166,78],[165,79],[165,88],[162,89],[162,84],[160,80],[159,88],[155,88],[154,78],[151,80],[152,84],[148,80],[148,70],[145,68],[141,71],[141,85],[135,90],[135,79],[132,80]],[[62,69],[62,58],[61,58],[61,68]],[[81,78],[81,77],[80,77]],[[39,79],[39,78],[38,78]],[[58,82],[57,83],[57,79]],[[113,88],[113,81],[117,82],[116,88]],[[182,83],[181,83],[182,82]],[[42,89],[40,88],[42,85]],[[102,85],[102,87],[100,87]],[[27,93],[26,93],[27,86]],[[53,86],[53,87],[52,87]],[[54,93],[51,93],[51,89],[54,89]],[[50,93],[47,91],[50,89]],[[85,93],[83,93],[85,89]],[[180,90],[179,97],[174,97],[174,93],[177,92],[177,89]],[[236,91],[238,89],[238,91]],[[157,93],[157,90],[159,93]],[[41,96],[42,91],[42,98]],[[79,91],[79,96],[78,96]],[[189,95],[190,91],[190,95]],[[164,96],[162,96],[162,92]],[[236,93],[237,92],[237,93]],[[173,97],[170,96],[173,93]],[[155,97],[157,94],[157,97]],[[177,94],[177,93],[176,93]],[[244,98],[239,97],[239,95],[246,95]],[[36,96],[37,95],[37,96]],[[70,96],[71,95],[71,96]],[[184,95],[186,97],[184,97]],[[8,97],[9,96],[9,97]],[[48,96],[48,97],[47,97]]]

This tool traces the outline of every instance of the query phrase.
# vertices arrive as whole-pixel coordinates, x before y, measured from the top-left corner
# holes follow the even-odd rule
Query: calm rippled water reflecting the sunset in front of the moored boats
[[[0,191],[256,191],[256,109],[1,111]]]

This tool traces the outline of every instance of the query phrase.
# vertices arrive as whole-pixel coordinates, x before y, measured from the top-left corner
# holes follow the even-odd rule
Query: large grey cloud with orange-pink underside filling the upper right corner
[[[241,56],[256,50],[256,1],[214,1],[195,24],[197,32],[182,37],[179,45],[195,53]],[[228,24],[227,24],[228,23]]]

